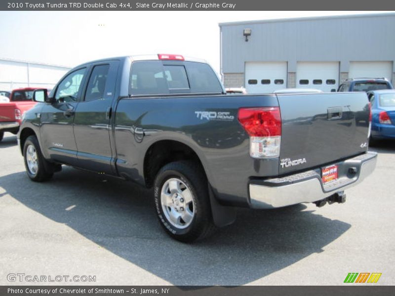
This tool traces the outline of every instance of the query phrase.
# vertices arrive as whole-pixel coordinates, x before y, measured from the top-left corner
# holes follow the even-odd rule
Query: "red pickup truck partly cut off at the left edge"
[[[22,115],[37,103],[33,101],[33,91],[37,87],[14,89],[9,97],[9,103],[0,103],[0,141],[4,132],[16,135],[21,125]]]

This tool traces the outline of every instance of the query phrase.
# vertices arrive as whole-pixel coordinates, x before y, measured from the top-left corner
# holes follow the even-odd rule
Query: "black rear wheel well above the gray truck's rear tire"
[[[204,173],[203,165],[192,148],[177,141],[159,141],[147,150],[144,157],[144,179],[146,186],[151,188],[154,185],[155,177],[161,167],[169,162],[178,160],[194,161]]]

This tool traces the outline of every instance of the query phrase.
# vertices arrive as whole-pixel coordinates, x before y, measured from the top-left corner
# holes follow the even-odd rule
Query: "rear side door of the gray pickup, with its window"
[[[118,61],[93,64],[74,118],[79,167],[112,174],[110,118],[115,97]]]

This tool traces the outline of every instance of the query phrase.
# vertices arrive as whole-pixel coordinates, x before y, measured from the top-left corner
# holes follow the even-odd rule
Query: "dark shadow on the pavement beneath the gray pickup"
[[[239,209],[235,224],[204,241],[183,244],[161,229],[151,192],[118,179],[63,167],[44,184],[31,182],[24,172],[0,177],[0,184],[5,190],[0,198],[10,194],[174,285],[247,284],[323,252],[351,227],[304,205]]]

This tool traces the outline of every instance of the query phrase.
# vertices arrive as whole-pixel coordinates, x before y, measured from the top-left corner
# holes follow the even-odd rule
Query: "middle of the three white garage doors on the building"
[[[298,62],[296,87],[330,92],[337,90],[338,86],[339,62]]]

